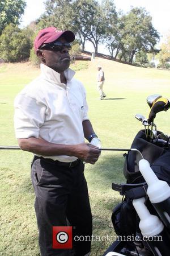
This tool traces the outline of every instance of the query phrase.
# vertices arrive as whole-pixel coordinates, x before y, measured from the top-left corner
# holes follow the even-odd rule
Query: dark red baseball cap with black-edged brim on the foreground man
[[[56,27],[46,27],[40,30],[34,42],[35,52],[42,46],[42,44],[52,43],[60,36],[63,36],[69,43],[73,42],[75,39],[74,33],[70,30],[62,31],[58,30]]]

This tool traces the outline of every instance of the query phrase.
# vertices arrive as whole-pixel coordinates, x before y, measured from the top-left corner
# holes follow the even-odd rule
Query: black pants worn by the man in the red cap
[[[83,256],[91,248],[91,241],[74,241],[75,236],[92,235],[92,216],[84,164],[73,168],[58,166],[35,157],[31,178],[35,189],[35,211],[39,228],[42,256]],[[73,250],[52,249],[52,227],[73,226]],[[77,239],[76,239],[77,240]]]

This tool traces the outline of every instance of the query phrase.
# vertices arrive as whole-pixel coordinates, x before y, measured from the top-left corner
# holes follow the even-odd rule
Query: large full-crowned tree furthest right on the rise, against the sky
[[[154,48],[159,40],[159,33],[152,26],[152,18],[142,7],[133,8],[121,17],[120,51],[121,57],[132,63],[139,51],[156,52]]]

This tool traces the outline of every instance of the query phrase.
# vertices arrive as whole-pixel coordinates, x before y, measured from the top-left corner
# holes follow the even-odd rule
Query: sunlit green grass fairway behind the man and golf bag
[[[105,73],[105,100],[99,100],[96,76],[97,64]],[[82,65],[82,69],[79,66]],[[170,71],[139,68],[116,61],[96,58],[77,61],[71,65],[75,77],[87,90],[89,117],[102,147],[129,148],[135,134],[143,129],[135,114],[147,117],[146,98],[161,94],[170,98]],[[83,68],[84,67],[84,68]],[[13,125],[13,102],[25,84],[39,75],[40,70],[30,63],[0,65],[0,145],[17,145]],[[170,110],[157,114],[158,130],[170,135]],[[125,181],[122,174],[125,152],[103,151],[94,165],[86,164],[86,179],[90,194],[94,236],[114,236],[111,222],[112,209],[121,196],[112,190],[112,182]],[[40,255],[34,211],[34,192],[30,179],[32,154],[19,150],[0,151],[1,175],[1,233],[0,255]],[[104,240],[104,239],[103,239]],[[104,253],[111,241],[92,242],[92,256]]]

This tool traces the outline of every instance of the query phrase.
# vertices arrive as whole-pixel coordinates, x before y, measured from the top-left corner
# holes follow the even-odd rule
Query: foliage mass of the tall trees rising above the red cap
[[[107,29],[112,28],[117,15],[111,0],[104,0],[101,5],[96,0],[47,0],[45,6],[45,13],[37,24],[39,28],[56,26],[61,30],[73,30],[82,49],[89,40],[96,53],[98,44],[104,42]]]

